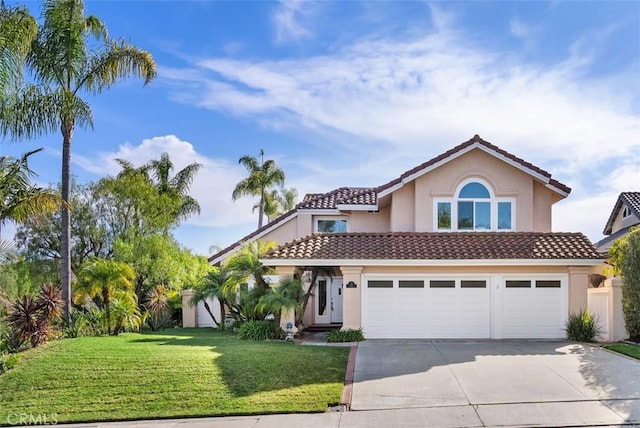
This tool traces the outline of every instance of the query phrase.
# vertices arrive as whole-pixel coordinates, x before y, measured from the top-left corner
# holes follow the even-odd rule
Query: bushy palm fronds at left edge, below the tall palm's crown
[[[20,159],[0,157],[0,230],[7,221],[23,222],[60,206],[60,196],[51,189],[34,186],[29,179],[34,173],[28,158],[41,150],[25,153]]]

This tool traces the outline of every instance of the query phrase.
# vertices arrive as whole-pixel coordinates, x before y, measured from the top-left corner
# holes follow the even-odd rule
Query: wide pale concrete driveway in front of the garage
[[[351,408],[440,412],[464,426],[640,423],[640,363],[557,341],[368,340]]]

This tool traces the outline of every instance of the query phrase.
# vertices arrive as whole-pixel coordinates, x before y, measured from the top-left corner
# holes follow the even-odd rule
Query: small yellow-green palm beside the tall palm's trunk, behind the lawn
[[[133,268],[126,263],[107,259],[92,260],[79,272],[74,302],[83,304],[87,297],[95,302],[99,297],[100,305],[98,306],[102,306],[105,310],[107,332],[111,334],[111,300],[114,296],[118,296],[119,301],[126,300],[125,297],[135,300],[133,292],[135,276]],[[122,296],[123,292],[125,296]]]

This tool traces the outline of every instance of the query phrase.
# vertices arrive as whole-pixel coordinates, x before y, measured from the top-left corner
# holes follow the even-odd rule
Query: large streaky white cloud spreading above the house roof
[[[194,91],[185,79],[180,96],[331,141],[326,151],[342,151],[331,162],[318,151],[295,159],[305,169],[290,184],[301,193],[382,184],[480,134],[574,189],[554,211],[556,230],[599,238],[619,191],[640,182],[637,62],[615,75],[590,73],[615,26],[577,37],[557,63],[539,64],[477,44],[454,16],[431,9],[433,26],[411,38],[369,36],[284,60],[201,60],[191,71],[202,83]],[[520,37],[537,30],[511,23]]]

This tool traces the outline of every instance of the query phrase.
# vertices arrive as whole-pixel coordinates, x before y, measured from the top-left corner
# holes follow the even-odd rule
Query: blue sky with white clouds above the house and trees
[[[202,163],[202,214],[175,231],[200,254],[255,228],[254,201],[231,192],[238,158],[261,148],[302,196],[377,186],[479,134],[572,187],[553,228],[594,241],[618,193],[640,190],[640,2],[86,4],[153,54],[158,78],[90,99],[72,172],[97,180],[114,158],[163,151]],[[34,147],[38,182],[57,183],[58,135],[0,154]]]

